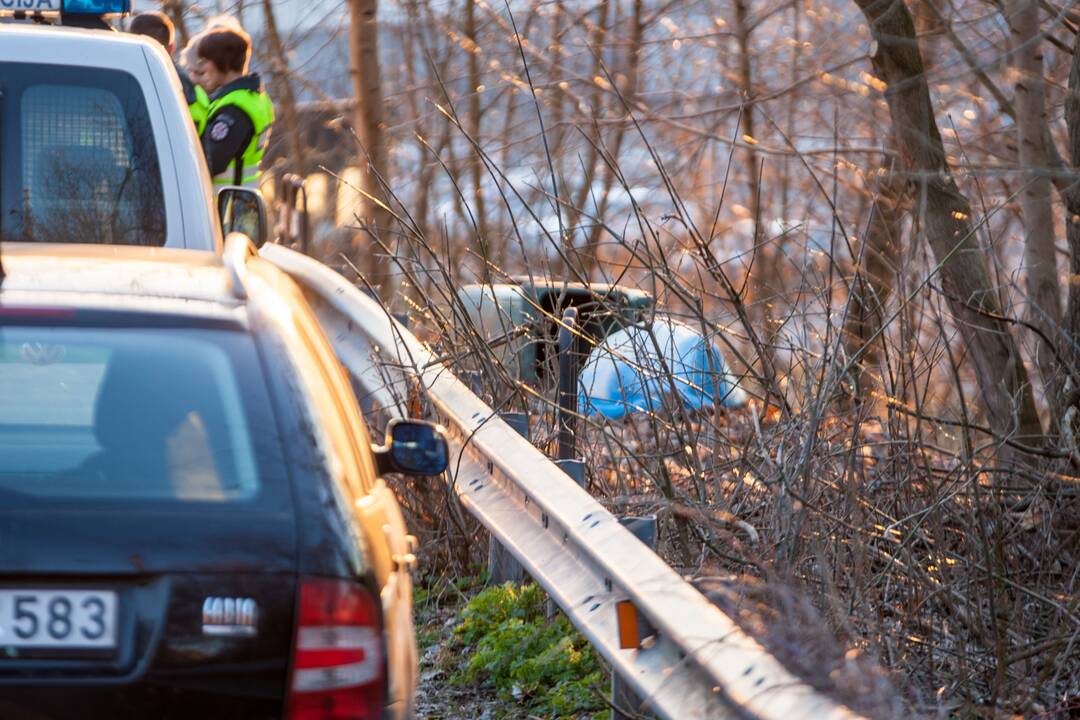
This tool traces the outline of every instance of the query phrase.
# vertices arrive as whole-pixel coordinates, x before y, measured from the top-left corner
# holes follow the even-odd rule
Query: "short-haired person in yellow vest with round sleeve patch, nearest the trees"
[[[210,93],[203,151],[215,185],[258,188],[259,163],[270,139],[273,103],[257,73],[248,73],[252,39],[216,27],[199,40],[199,81]]]

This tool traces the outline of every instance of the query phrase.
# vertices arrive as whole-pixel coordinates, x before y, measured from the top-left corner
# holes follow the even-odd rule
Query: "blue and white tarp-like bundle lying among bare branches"
[[[609,335],[589,354],[578,383],[581,413],[611,420],[658,411],[673,392],[696,410],[712,409],[716,398],[726,408],[746,402],[715,343],[663,315],[657,315],[651,328]]]

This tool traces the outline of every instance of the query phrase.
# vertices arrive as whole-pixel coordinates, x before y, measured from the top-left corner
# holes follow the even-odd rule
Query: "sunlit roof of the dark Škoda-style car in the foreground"
[[[233,314],[243,304],[219,255],[131,245],[0,243],[0,305]]]

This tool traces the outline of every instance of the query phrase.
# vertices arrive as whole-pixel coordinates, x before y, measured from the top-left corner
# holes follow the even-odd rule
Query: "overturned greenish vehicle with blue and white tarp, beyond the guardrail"
[[[644,290],[515,277],[467,285],[458,298],[514,379],[542,389],[558,378],[559,405],[582,416],[620,420],[672,400],[705,411],[746,402],[715,328],[658,312]]]

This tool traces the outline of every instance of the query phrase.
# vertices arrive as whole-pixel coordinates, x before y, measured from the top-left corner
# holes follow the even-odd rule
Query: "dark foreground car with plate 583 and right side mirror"
[[[243,239],[239,239],[243,240]],[[411,538],[293,282],[0,246],[0,718],[408,717]]]

